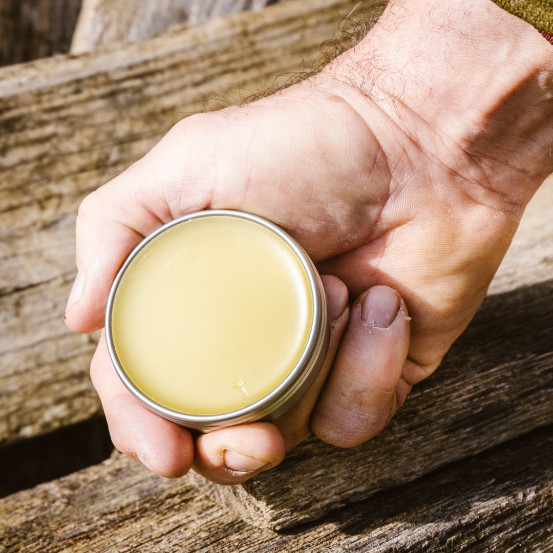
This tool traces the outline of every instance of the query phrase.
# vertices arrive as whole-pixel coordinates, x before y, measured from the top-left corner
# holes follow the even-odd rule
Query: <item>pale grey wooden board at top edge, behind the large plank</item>
[[[269,3],[275,0],[83,0],[70,52],[131,44],[174,25],[261,9]]]

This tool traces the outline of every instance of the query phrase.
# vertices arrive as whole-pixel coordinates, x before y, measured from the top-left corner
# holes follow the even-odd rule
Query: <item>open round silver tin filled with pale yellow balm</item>
[[[330,335],[319,274],[258,216],[191,213],[131,253],[106,310],[112,362],[155,413],[210,431],[273,420],[305,394]]]

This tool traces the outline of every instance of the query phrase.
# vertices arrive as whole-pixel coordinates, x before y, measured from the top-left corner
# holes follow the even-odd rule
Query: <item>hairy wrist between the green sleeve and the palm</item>
[[[403,133],[508,202],[525,205],[553,171],[553,51],[489,0],[392,0],[324,75],[384,150]]]

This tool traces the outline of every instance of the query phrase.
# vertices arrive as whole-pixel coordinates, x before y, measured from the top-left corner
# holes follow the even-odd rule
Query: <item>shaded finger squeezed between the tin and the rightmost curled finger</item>
[[[325,288],[328,317],[331,320],[328,353],[317,379],[304,397],[301,398],[298,404],[275,421],[276,427],[278,427],[284,437],[286,451],[290,451],[312,434],[311,411],[317,403],[322,387],[325,385],[328,372],[330,372],[338,346],[340,345],[340,340],[342,340],[343,333],[347,327],[349,306],[346,285],[336,278],[336,276],[322,275],[321,280]]]

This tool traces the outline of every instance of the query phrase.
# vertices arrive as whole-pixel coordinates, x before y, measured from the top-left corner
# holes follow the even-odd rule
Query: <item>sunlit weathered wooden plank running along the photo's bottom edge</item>
[[[274,533],[244,523],[186,478],[165,480],[119,456],[0,500],[0,551],[546,553],[551,458],[548,427],[317,524]],[[360,478],[349,475],[352,485]]]

